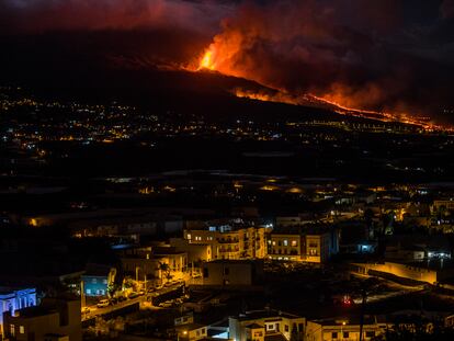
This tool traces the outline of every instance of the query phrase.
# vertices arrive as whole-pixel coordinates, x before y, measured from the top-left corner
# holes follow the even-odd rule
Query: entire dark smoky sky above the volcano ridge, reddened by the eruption
[[[220,71],[452,120],[454,0],[0,0],[0,30],[3,68],[61,49],[189,64],[216,36]]]

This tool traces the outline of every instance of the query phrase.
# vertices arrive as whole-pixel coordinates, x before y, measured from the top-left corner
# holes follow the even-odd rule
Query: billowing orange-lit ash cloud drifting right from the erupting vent
[[[438,115],[453,105],[451,9],[450,0],[248,2],[214,39],[216,68],[348,106]]]

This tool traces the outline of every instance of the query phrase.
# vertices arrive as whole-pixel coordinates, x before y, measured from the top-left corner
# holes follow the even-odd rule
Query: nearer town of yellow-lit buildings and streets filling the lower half
[[[454,322],[449,183],[100,182],[104,203],[136,206],[3,214],[4,339],[375,340],[410,316]],[[191,193],[206,202],[178,204]],[[158,198],[174,204],[143,205]]]

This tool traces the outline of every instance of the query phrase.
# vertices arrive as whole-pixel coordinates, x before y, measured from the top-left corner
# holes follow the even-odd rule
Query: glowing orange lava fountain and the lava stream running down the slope
[[[203,56],[198,60],[198,67],[195,69],[196,71],[203,70],[211,70],[211,71],[218,71],[216,66],[216,50],[213,45],[211,45]],[[220,72],[224,73],[224,72]],[[228,75],[227,76],[235,76],[236,75]],[[274,89],[269,86],[264,86],[276,91],[275,94],[266,94],[264,92],[253,92],[249,90],[241,90],[241,89],[234,89],[231,91],[238,98],[247,98],[251,100],[264,101],[264,102],[276,102],[276,103],[286,103],[286,104],[294,104],[294,105],[309,105],[313,104],[315,106],[330,106],[334,112],[341,115],[350,115],[355,117],[368,118],[368,120],[377,120],[382,122],[400,122],[405,124],[410,124],[418,126],[424,130],[454,130],[452,127],[443,127],[440,125],[429,124],[423,120],[419,120],[418,117],[411,117],[407,114],[396,115],[393,113],[387,112],[377,112],[372,110],[361,110],[354,107],[348,107],[342,105],[341,103],[330,101],[324,96],[318,96],[311,93],[306,93],[303,95],[295,96],[293,94],[288,94],[286,91],[282,91],[280,89]],[[318,104],[318,105],[317,105]]]

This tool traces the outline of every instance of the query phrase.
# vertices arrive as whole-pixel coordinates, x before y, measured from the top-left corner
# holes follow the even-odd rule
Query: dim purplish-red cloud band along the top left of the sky
[[[223,1],[0,0],[5,32],[183,27],[209,31],[229,12]]]

